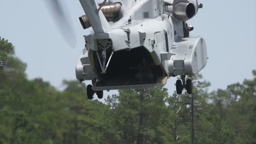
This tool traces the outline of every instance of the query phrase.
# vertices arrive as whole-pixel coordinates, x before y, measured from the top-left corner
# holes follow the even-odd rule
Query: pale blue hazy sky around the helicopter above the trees
[[[61,37],[44,0],[1,0],[0,3],[0,37],[14,44],[16,56],[27,63],[29,79],[43,77],[57,88],[61,88],[63,79],[75,80],[75,65],[84,48],[83,35],[90,31],[80,26],[78,17],[84,11],[79,1],[63,2],[75,29],[77,47],[74,49]],[[207,43],[209,59],[201,74],[211,82],[210,90],[252,79],[252,70],[256,69],[256,1],[200,2],[204,7],[189,24],[194,26],[191,34],[202,36]],[[176,78],[171,78],[165,86],[170,95],[175,81]]]

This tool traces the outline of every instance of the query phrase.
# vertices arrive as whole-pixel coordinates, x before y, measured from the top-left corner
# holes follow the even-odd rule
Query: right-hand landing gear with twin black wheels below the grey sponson
[[[191,94],[193,91],[193,83],[191,79],[188,79],[185,81],[185,75],[182,75],[182,80],[176,81],[176,91],[177,94],[182,94],[183,89],[185,88],[187,90],[188,94]]]

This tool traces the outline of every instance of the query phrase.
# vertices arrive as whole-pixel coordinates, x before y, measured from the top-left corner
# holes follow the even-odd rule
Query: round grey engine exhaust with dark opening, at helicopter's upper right
[[[173,13],[177,19],[187,21],[196,14],[196,7],[193,3],[178,2],[174,5]]]

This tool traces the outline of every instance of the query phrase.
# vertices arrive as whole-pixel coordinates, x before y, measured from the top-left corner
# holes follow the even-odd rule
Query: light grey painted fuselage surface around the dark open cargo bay
[[[92,1],[94,0],[90,0]],[[116,22],[106,22],[101,11],[97,13],[98,5],[95,5],[95,9],[90,7],[90,12],[88,12],[86,4],[89,1],[80,0],[80,2],[94,30],[85,35],[87,51],[82,52],[76,68],[79,81],[100,79],[96,73],[93,55],[93,52],[101,51],[96,42],[99,39],[111,39],[113,52],[136,49],[139,46],[145,47],[150,52],[155,65],[160,65],[167,77],[194,75],[205,67],[207,63],[205,40],[201,37],[184,38],[183,21],[176,19],[172,11],[165,11],[165,1],[109,0],[106,4],[116,2],[123,4],[120,10],[121,19]],[[197,4],[194,0],[188,2]],[[196,12],[197,9],[196,5]],[[83,63],[81,59],[86,59],[86,63]],[[166,81],[162,83],[165,85]],[[162,85],[150,85],[150,87],[158,86]],[[138,86],[94,86],[93,89],[101,91],[136,87]]]

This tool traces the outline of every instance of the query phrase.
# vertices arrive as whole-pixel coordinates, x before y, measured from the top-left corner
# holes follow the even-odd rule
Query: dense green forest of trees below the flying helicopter
[[[0,56],[0,144],[256,143],[256,70],[252,80],[213,92],[196,75],[191,95],[127,89],[101,103],[75,80],[63,80],[63,91],[28,80],[3,38]]]

